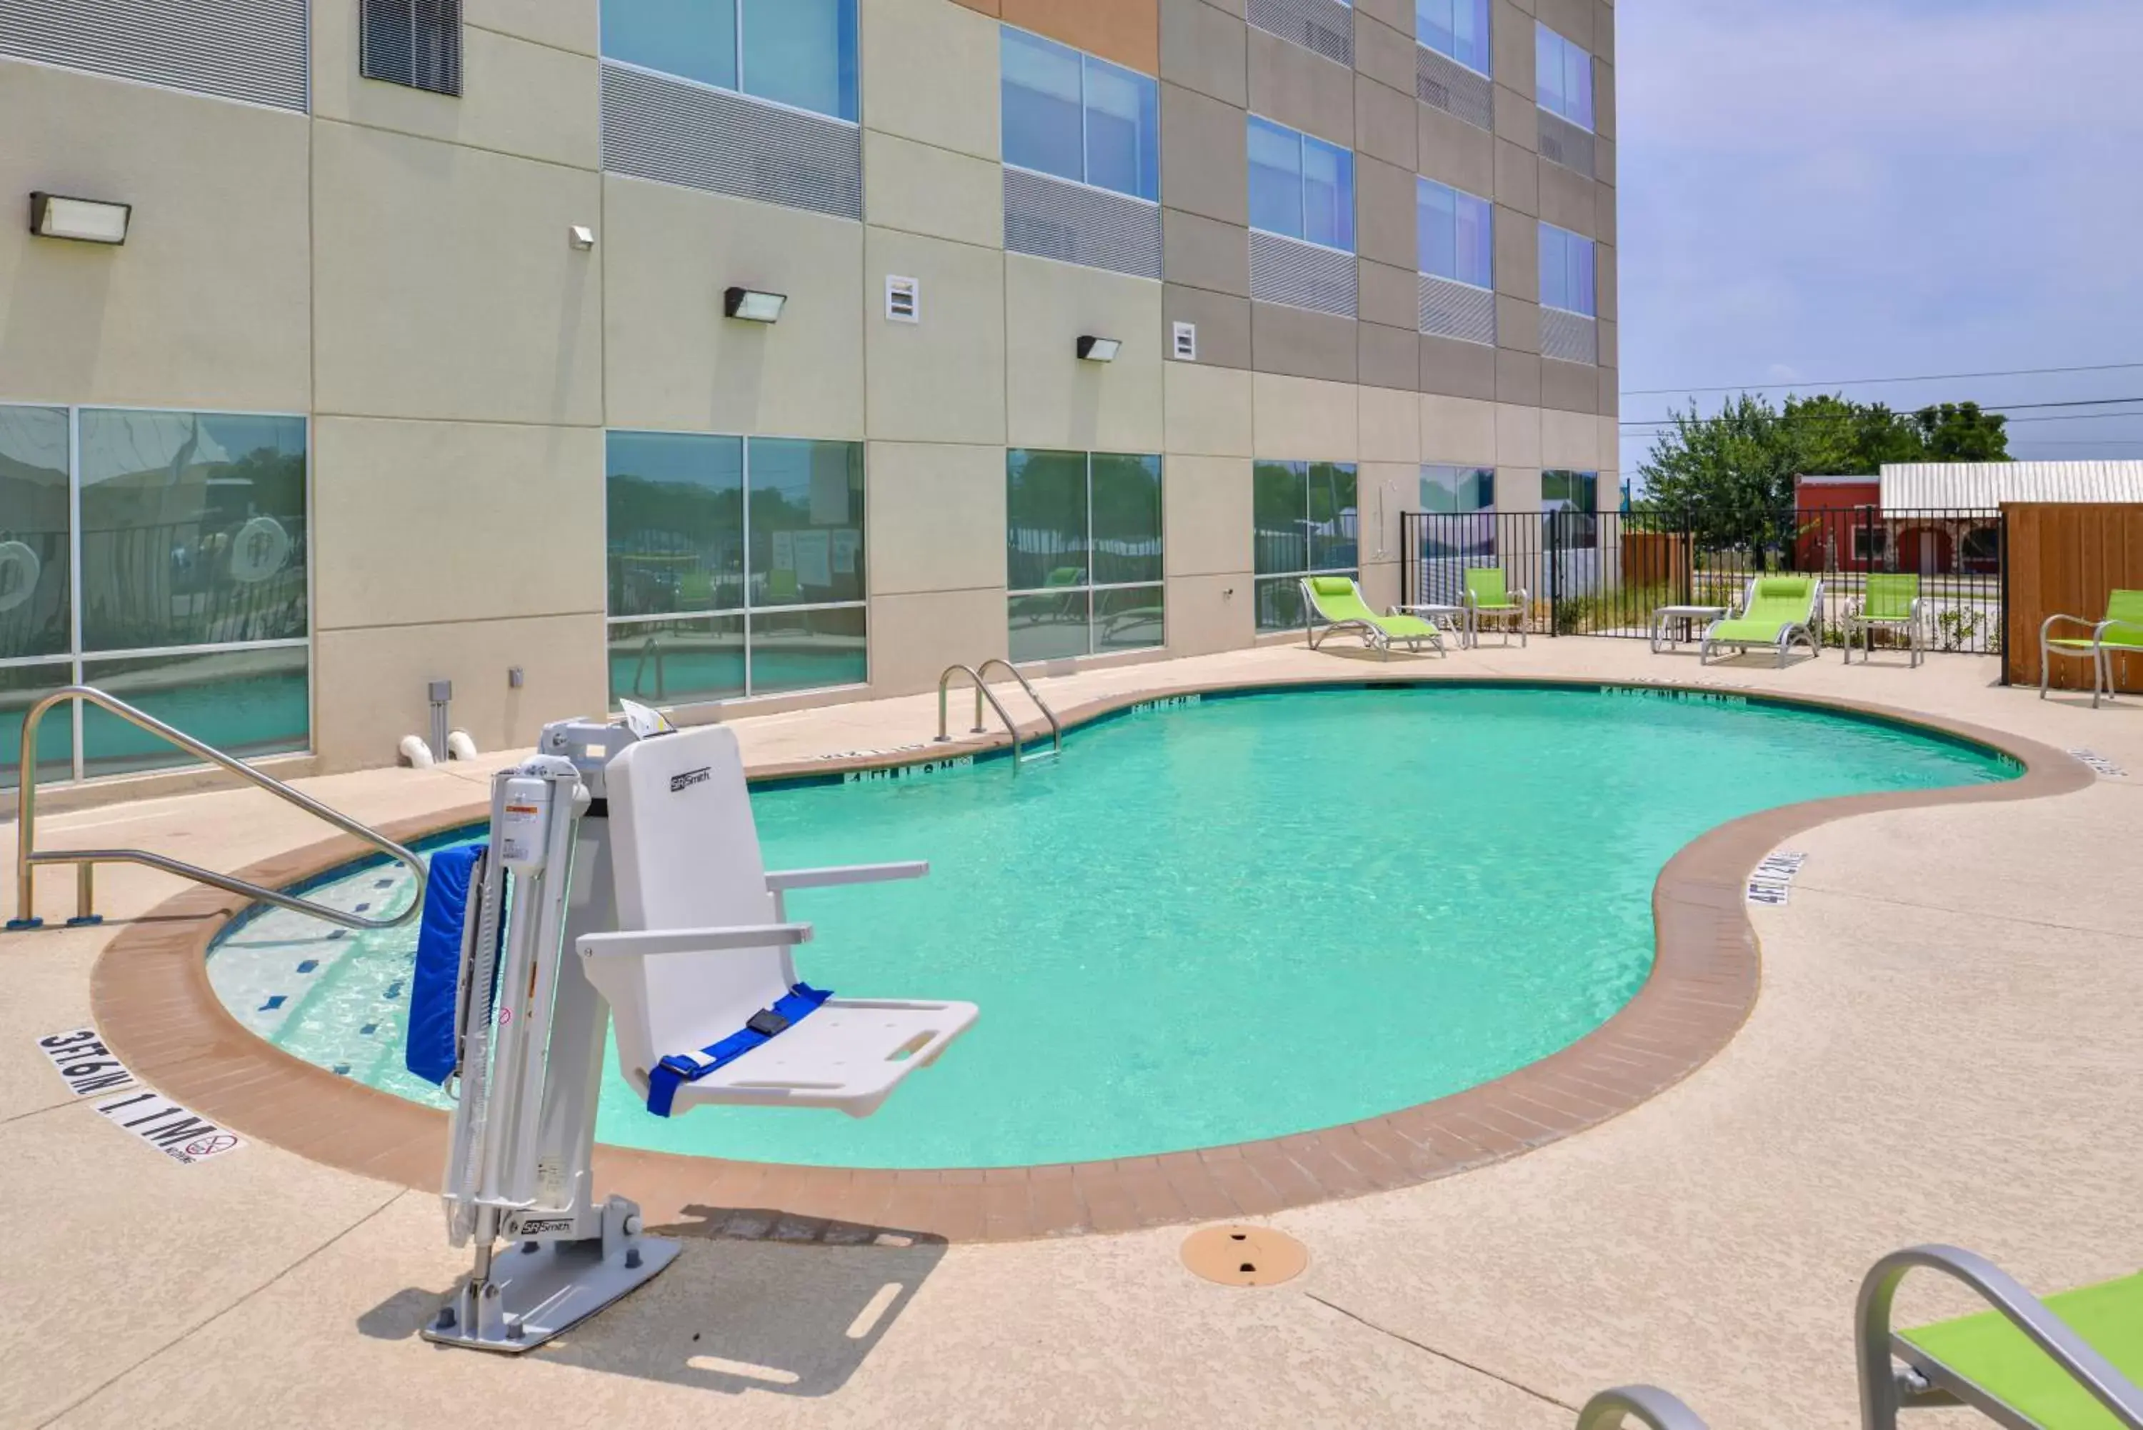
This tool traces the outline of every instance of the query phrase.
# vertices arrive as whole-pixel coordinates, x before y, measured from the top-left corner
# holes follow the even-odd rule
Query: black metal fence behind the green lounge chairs
[[[1867,577],[1890,572],[1920,577],[1929,650],[2002,650],[1999,512],[1807,508],[1732,523],[1659,512],[1408,512],[1399,551],[1406,605],[1462,605],[1468,568],[1500,568],[1507,590],[1526,592],[1532,635],[1648,639],[1661,607],[1740,607],[1755,577],[1807,575],[1824,583],[1824,643],[1841,645]]]

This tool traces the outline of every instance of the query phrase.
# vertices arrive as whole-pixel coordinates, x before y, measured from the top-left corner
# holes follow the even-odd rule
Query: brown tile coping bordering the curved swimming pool
[[[844,1239],[898,1228],[949,1241],[1014,1241],[1132,1231],[1170,1222],[1245,1218],[1339,1196],[1434,1181],[1513,1158],[1592,1128],[1676,1085],[1734,1038],[1755,1006],[1762,960],[1747,913],[1755,864],[1813,825],[1877,810],[2034,800],[2083,789],[2092,772],[2051,746],[1957,720],[1879,705],[1781,697],[1732,686],[1614,680],[1483,680],[1376,675],[1365,680],[1258,680],[1149,688],[1069,710],[1065,727],[1177,695],[1301,686],[1462,684],[1534,688],[1639,688],[1740,695],[1757,703],[1875,716],[1991,746],[2021,761],[2021,778],[1954,789],[1815,800],[1762,810],[1699,836],[1652,888],[1657,954],[1637,995],[1560,1053],[1436,1102],[1320,1132],[1112,1162],[975,1171],[855,1171],[596,1149],[598,1194],[641,1203],[656,1228],[778,1239]],[[954,755],[1003,746],[962,742]],[[761,765],[754,778],[917,763],[894,757]],[[1009,774],[1007,774],[1009,778]],[[386,832],[399,840],[474,823],[469,804]],[[360,858],[330,838],[261,860],[240,877],[283,888]],[[446,1158],[446,1115],[304,1063],[231,1018],[208,982],[208,945],[244,900],[191,890],[124,926],[90,980],[105,1042],[144,1081],[186,1106],[298,1156],[366,1177],[435,1190]]]

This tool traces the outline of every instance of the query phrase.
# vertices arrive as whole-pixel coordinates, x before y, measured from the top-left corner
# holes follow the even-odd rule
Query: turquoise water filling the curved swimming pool
[[[1916,731],[1727,699],[1352,688],[1207,699],[1003,761],[754,795],[771,868],[921,858],[791,896],[799,969],[960,997],[981,1023],[864,1121],[649,1117],[609,1068],[600,1136],[834,1166],[1001,1166],[1207,1147],[1462,1091],[1609,1018],[1652,963],[1650,892],[1759,808],[2010,778]],[[390,907],[392,868],[328,898]],[[401,1070],[414,930],[270,911],[210,956],[255,1031],[375,1087]]]

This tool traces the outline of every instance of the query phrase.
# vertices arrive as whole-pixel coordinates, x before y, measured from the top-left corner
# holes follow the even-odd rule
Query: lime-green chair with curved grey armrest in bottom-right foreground
[[[1963,1282],[1993,1310],[1892,1331],[1897,1286],[1920,1267]],[[2010,1430],[2143,1430],[2143,1276],[2040,1301],[1982,1256],[1912,1246],[1860,1282],[1856,1331],[1864,1430],[1897,1430],[1899,1411],[1946,1404]]]

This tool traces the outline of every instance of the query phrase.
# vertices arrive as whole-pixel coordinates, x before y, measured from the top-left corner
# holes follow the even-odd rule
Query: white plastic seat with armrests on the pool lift
[[[759,853],[737,738],[720,725],[619,750],[609,768],[619,933],[579,939],[587,980],[611,1003],[617,1059],[645,1098],[649,1068],[744,1029],[797,984],[782,890],[911,879],[926,864],[769,875]],[[906,1074],[975,1023],[973,1003],[842,999],[821,1003],[735,1061],[675,1091],[701,1102],[827,1106],[868,1117]]]

